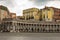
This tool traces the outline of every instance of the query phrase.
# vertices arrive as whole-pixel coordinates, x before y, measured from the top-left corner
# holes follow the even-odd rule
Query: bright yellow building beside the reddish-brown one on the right
[[[51,7],[46,7],[42,10],[42,19],[45,21],[52,21],[54,10]]]

